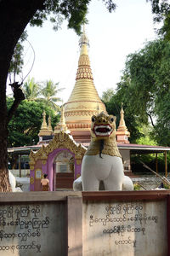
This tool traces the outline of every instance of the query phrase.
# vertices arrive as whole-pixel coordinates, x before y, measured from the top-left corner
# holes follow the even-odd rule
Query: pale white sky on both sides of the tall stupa
[[[116,0],[115,3],[116,11],[111,14],[102,0],[92,0],[88,9],[88,55],[99,96],[107,89],[116,89],[127,55],[156,38],[150,3],[146,0]],[[67,102],[75,84],[80,55],[77,33],[67,28],[66,21],[57,32],[47,21],[42,28],[27,26],[27,33],[35,61],[31,69],[34,55],[26,42],[23,77],[31,69],[29,76],[36,82],[49,79],[59,82],[59,88],[65,88],[59,96]]]

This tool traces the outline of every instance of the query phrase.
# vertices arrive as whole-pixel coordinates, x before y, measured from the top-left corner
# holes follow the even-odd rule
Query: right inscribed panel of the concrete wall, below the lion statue
[[[166,201],[84,202],[83,255],[167,255],[166,210]]]

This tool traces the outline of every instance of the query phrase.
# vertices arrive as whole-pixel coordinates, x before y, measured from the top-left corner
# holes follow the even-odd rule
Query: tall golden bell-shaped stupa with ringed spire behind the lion
[[[80,38],[76,84],[68,102],[65,103],[65,124],[78,143],[90,141],[91,117],[105,110],[94,86],[94,79],[88,57],[88,37],[83,29]]]

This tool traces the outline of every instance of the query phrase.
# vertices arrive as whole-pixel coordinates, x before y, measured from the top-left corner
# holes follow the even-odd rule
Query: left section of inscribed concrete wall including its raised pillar
[[[82,223],[77,221],[78,227],[75,226],[79,212],[82,220],[79,195],[69,192],[0,193],[0,255],[65,256],[76,245],[77,252],[72,250],[72,255],[81,255],[82,234],[80,236],[78,230],[82,230]]]

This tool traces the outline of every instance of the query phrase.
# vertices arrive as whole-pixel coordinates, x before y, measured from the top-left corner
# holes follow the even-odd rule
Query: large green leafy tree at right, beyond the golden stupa
[[[117,92],[139,124],[153,126],[157,143],[170,145],[170,43],[161,39],[127,56],[122,81]],[[149,118],[149,119],[148,119]]]

